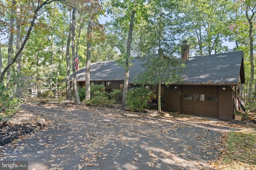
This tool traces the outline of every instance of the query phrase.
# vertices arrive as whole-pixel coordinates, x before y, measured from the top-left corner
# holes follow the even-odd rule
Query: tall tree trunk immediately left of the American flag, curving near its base
[[[75,46],[75,39],[76,39],[76,34],[75,34],[75,29],[76,29],[76,9],[73,8],[72,11],[72,70],[73,70],[73,82],[72,84],[74,85],[74,93],[76,95],[76,102],[80,104],[80,98],[79,98],[79,93],[78,93],[78,88],[77,88],[77,82],[76,82],[76,46]]]

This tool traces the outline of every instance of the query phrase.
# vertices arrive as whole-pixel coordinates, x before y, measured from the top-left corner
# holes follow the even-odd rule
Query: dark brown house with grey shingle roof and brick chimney
[[[184,44],[182,49],[181,61],[186,65],[181,73],[182,83],[162,86],[162,110],[221,120],[233,119],[236,97],[241,84],[245,83],[243,52],[189,57],[188,45]],[[141,61],[134,60],[133,64],[130,66],[129,83],[142,70]],[[76,75],[79,86],[85,84],[85,72],[84,67]],[[109,91],[122,89],[124,68],[115,61],[91,63],[90,82],[103,84]],[[156,86],[149,88],[157,93]],[[152,108],[157,106],[154,102]]]

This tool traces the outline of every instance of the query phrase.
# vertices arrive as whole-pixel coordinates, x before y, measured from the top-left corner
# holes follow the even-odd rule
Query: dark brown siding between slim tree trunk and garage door
[[[163,109],[168,111],[180,111],[180,86],[164,86]]]

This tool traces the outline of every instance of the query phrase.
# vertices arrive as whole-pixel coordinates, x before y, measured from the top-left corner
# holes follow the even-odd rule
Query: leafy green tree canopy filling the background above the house
[[[126,68],[132,57],[153,56],[159,51],[179,58],[181,42],[186,40],[190,55],[243,50],[243,95],[255,96],[254,0],[0,0],[2,84],[65,87],[61,80],[67,76],[67,66],[74,55],[72,43],[67,43],[72,9],[77,11],[74,42],[80,68],[86,66],[88,39],[92,63],[118,60]],[[107,18],[104,24],[99,23],[102,16]],[[88,29],[92,29],[89,34]],[[65,58],[69,53],[70,58]],[[14,66],[19,62],[20,67]]]

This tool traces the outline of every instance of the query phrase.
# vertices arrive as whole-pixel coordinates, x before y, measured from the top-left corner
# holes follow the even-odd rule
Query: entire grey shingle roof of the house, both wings
[[[237,84],[240,75],[243,52],[190,57],[182,73],[182,83],[231,83]],[[142,62],[138,59],[132,61],[130,66],[129,82],[142,70]],[[243,63],[242,63],[243,64]],[[242,67],[243,68],[243,67]],[[85,81],[86,67],[80,69],[77,81]],[[244,72],[243,72],[244,73]],[[72,77],[72,76],[71,76]],[[116,61],[91,63],[90,81],[124,80],[124,68]]]

